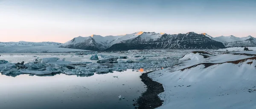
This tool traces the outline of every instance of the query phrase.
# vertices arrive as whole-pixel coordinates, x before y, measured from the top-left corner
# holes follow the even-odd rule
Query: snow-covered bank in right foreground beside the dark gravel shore
[[[256,58],[217,54],[149,73],[165,90],[157,109],[256,109]]]

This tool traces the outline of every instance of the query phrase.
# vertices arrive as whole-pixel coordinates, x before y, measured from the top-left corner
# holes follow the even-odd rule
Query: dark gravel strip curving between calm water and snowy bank
[[[157,96],[159,93],[164,92],[163,84],[149,78],[148,73],[151,72],[143,73],[140,76],[141,81],[147,86],[147,90],[137,100],[138,109],[154,109],[163,104],[163,100],[160,100]]]

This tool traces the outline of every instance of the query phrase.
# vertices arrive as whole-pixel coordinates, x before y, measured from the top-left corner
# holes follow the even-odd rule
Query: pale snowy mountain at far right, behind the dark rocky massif
[[[214,37],[212,39],[222,42],[225,47],[256,47],[256,39],[252,36],[235,37],[231,35]]]

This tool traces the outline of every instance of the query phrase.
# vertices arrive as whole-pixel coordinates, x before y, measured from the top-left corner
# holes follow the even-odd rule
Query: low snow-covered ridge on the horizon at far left
[[[0,42],[0,46],[9,47],[9,46],[53,46],[53,45],[61,45],[58,42]]]

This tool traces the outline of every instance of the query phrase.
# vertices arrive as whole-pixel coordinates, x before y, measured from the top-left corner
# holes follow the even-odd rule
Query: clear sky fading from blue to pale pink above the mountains
[[[0,0],[0,42],[138,31],[256,37],[256,0]]]

